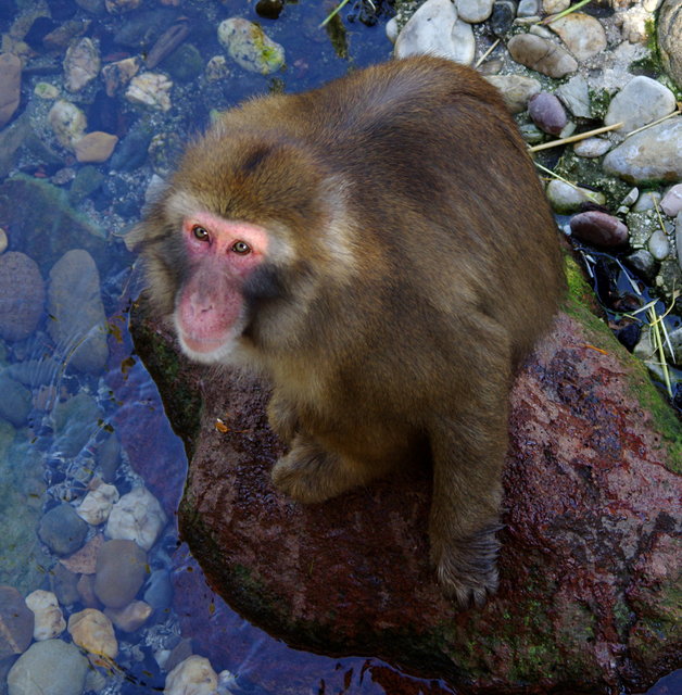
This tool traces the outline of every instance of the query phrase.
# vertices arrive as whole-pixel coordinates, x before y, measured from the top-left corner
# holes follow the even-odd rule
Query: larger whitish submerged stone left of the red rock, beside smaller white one
[[[147,488],[136,488],[113,506],[106,521],[110,539],[135,541],[149,551],[166,526],[161,504]]]

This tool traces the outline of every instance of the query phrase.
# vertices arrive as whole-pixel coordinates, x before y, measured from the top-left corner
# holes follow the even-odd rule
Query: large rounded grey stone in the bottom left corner
[[[62,640],[36,642],[8,674],[9,695],[81,695],[88,659]]]

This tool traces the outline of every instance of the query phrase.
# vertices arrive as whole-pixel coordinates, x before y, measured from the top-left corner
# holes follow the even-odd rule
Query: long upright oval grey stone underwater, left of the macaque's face
[[[48,331],[70,364],[99,374],[109,358],[106,315],[100,274],[87,251],[67,251],[50,270],[48,311],[52,318]]]

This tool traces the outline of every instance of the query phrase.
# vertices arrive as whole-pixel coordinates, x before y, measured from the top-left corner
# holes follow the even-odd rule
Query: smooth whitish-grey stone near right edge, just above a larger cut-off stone
[[[639,75],[633,77],[615,97],[604,117],[607,126],[622,123],[618,137],[672,113],[677,108],[674,94],[659,81]]]

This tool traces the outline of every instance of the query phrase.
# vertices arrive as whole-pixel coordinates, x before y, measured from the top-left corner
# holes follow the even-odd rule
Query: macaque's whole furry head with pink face
[[[182,351],[229,362],[236,346],[286,345],[318,278],[348,265],[342,217],[340,188],[310,151],[218,126],[189,148],[129,239]]]

